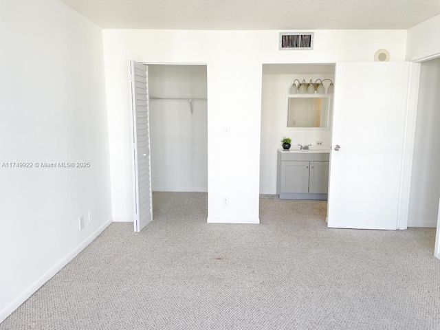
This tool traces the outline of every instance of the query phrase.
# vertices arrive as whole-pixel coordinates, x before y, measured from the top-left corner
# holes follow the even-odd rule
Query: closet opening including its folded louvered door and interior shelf
[[[206,65],[131,61],[130,67],[134,230],[152,221],[155,210],[206,219]],[[155,196],[160,198],[153,207]]]

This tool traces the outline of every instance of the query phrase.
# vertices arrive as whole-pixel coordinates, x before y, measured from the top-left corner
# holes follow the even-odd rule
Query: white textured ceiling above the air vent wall
[[[406,30],[440,14],[440,0],[61,1],[114,29]]]

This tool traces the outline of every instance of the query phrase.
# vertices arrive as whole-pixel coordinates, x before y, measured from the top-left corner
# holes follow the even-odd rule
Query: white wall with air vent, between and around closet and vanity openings
[[[263,63],[404,61],[406,31],[315,31],[313,51],[279,51],[278,31],[104,30],[113,218],[133,221],[129,61],[208,65],[208,221],[258,222]],[[223,127],[230,126],[230,135]],[[230,206],[221,206],[223,196]]]

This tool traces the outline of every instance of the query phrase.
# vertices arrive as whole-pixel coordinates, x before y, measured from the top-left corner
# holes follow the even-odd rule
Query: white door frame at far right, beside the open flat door
[[[408,85],[408,100],[406,109],[406,128],[404,137],[404,153],[401,167],[401,184],[399,195],[399,211],[397,215],[397,229],[408,228],[408,214],[410,206],[410,191],[412,177],[412,157],[414,156],[415,126],[417,120],[417,105],[419,100],[419,82],[421,63],[439,58],[440,52],[419,56],[410,59],[410,80]],[[438,228],[437,228],[438,229]],[[437,230],[437,239],[440,234]]]

